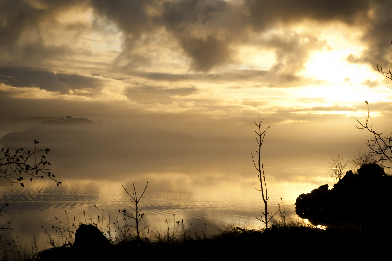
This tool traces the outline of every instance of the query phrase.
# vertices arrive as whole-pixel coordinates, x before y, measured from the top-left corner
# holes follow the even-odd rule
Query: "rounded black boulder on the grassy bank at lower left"
[[[93,225],[80,224],[76,230],[74,247],[102,248],[109,245],[109,239]]]

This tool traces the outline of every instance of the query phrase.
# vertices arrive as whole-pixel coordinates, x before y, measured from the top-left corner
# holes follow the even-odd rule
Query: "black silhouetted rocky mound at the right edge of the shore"
[[[322,185],[296,200],[296,213],[313,225],[370,225],[392,217],[392,176],[377,164],[347,171],[332,189]]]

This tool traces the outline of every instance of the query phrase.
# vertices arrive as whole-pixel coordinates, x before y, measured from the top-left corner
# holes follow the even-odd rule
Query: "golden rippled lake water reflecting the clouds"
[[[309,193],[319,185],[331,185],[325,168],[265,167],[265,171],[269,208],[273,212],[278,210],[280,198],[283,198],[287,216],[295,216],[294,203],[298,194]],[[114,177],[113,173],[106,176]],[[88,221],[90,218],[97,220],[100,213],[94,205],[105,213],[110,211],[111,218],[119,209],[130,211],[131,201],[121,185],[131,191],[132,181],[140,193],[149,182],[140,205],[144,209],[145,222],[151,224],[153,230],[167,228],[165,220],[173,223],[173,214],[175,221],[183,219],[186,225],[192,223],[199,230],[206,223],[207,234],[213,234],[216,227],[227,223],[261,225],[255,218],[261,216],[263,202],[260,192],[255,189],[260,183],[254,167],[161,167],[110,179],[63,178],[60,187],[51,182],[34,181],[24,189],[2,180],[0,202],[9,203],[10,211],[14,212],[11,236],[18,235],[21,243],[27,244],[34,236],[38,248],[44,249],[50,246],[41,225],[51,232],[51,227],[58,225],[55,217],[66,220],[64,210],[71,220],[75,217],[76,222],[83,223],[83,211]]]

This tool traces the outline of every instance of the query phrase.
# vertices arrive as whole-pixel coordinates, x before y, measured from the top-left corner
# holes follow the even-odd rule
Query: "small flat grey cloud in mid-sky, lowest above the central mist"
[[[125,90],[125,95],[129,99],[137,101],[138,103],[161,103],[169,104],[174,101],[171,96],[174,95],[189,95],[197,93],[198,88],[191,86],[188,88],[162,88],[160,86],[134,86],[128,87]]]

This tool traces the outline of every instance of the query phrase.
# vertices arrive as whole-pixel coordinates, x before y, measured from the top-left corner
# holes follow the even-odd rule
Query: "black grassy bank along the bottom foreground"
[[[57,248],[42,261],[69,260],[342,260],[389,255],[390,229],[275,227],[265,232],[234,229],[212,239],[181,243],[125,241],[107,247]]]

